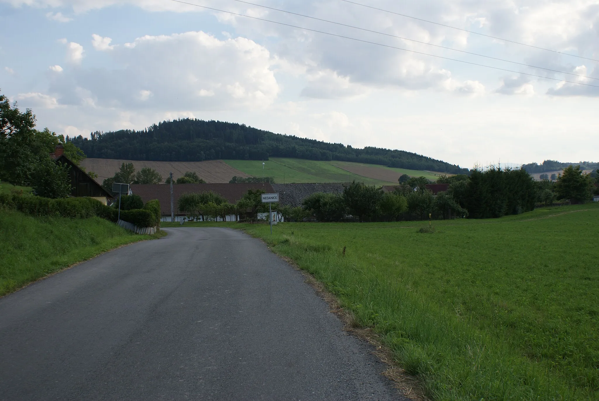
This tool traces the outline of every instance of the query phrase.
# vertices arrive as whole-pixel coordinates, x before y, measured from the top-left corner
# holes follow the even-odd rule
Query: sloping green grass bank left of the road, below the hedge
[[[165,235],[133,234],[95,216],[33,217],[0,209],[0,296],[110,249]]]

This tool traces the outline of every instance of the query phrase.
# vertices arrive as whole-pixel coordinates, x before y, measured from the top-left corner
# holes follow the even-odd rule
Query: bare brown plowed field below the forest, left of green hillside
[[[133,163],[136,171],[140,171],[144,167],[150,167],[158,171],[165,180],[169,173],[173,173],[174,179],[185,174],[186,171],[195,171],[201,179],[207,183],[226,183],[233,176],[249,177],[248,174],[239,171],[230,165],[220,160],[210,161],[139,161],[139,160],[122,160],[122,159],[94,159],[87,158],[81,162],[81,167],[86,171],[93,171],[98,174],[96,179],[99,183],[108,177],[113,177],[114,173],[119,171],[120,165],[123,163]],[[163,181],[164,182],[164,181]]]

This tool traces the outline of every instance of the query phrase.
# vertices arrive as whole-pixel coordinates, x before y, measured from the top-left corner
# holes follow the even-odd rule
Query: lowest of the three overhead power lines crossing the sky
[[[544,77],[542,75],[537,75],[537,74],[522,73],[521,71],[507,70],[507,68],[493,67],[491,65],[478,64],[478,63],[474,63],[474,62],[470,62],[470,61],[464,61],[464,60],[459,60],[459,59],[452,59],[450,57],[431,55],[430,53],[418,52],[416,50],[410,50],[410,49],[403,49],[403,47],[391,46],[389,44],[383,44],[383,43],[377,43],[377,42],[372,42],[372,41],[368,41],[368,40],[362,40],[362,39],[358,39],[358,38],[352,38],[352,37],[349,37],[349,36],[333,34],[331,32],[319,31],[317,29],[305,28],[303,26],[291,25],[291,24],[288,24],[288,23],[285,23],[285,22],[278,22],[278,21],[273,21],[273,20],[267,20],[267,19],[264,19],[264,18],[248,16],[246,14],[234,13],[232,11],[220,10],[219,8],[208,7],[206,5],[193,4],[193,3],[189,3],[189,2],[181,1],[181,0],[171,0],[171,1],[174,1],[176,3],[181,3],[181,4],[192,5],[194,7],[204,8],[205,10],[213,10],[213,11],[218,11],[219,13],[231,14],[231,15],[238,16],[238,17],[245,17],[245,18],[250,18],[250,19],[253,19],[253,20],[259,20],[259,21],[264,21],[264,22],[276,23],[277,25],[289,26],[291,28],[297,28],[297,29],[302,29],[304,31],[316,32],[318,34],[329,35],[329,36],[333,36],[333,37],[337,37],[337,38],[349,39],[349,40],[353,40],[353,41],[361,42],[361,43],[374,44],[376,46],[387,47],[388,49],[402,50],[403,52],[410,52],[410,53],[415,53],[415,54],[419,54],[419,55],[423,55],[423,56],[431,56],[431,57],[435,57],[435,58],[439,58],[439,59],[444,59],[444,60],[449,60],[449,61],[456,61],[456,62],[461,62],[461,63],[464,63],[464,64],[470,64],[470,65],[476,65],[478,67],[492,68],[493,70],[506,71],[508,73],[522,74],[522,75],[526,75],[526,76],[530,76],[530,77],[537,77],[537,78],[549,79],[549,80],[552,80],[552,81],[574,83],[574,84],[577,84],[577,85],[592,86],[593,88],[599,88],[598,85],[591,85],[589,83],[574,82],[574,81],[567,81],[567,80],[563,80],[563,79],[559,79],[559,78]]]

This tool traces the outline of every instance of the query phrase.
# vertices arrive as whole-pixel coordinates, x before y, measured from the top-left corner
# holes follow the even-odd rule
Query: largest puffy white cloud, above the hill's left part
[[[261,108],[279,94],[270,53],[245,38],[146,35],[110,54],[120,68],[78,69],[57,78],[52,91],[69,104],[87,98],[96,107],[161,110]]]

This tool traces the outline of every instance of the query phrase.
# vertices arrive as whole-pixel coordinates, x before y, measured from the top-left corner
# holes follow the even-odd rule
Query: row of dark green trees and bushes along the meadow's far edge
[[[401,219],[498,218],[549,206],[554,201],[583,203],[599,195],[599,169],[583,174],[580,166],[568,166],[556,182],[536,182],[524,169],[473,170],[469,176],[441,176],[436,183],[449,184],[433,195],[426,177],[402,176],[393,192],[353,182],[342,194],[312,194],[302,206],[279,207],[286,219],[303,221],[399,221]]]

